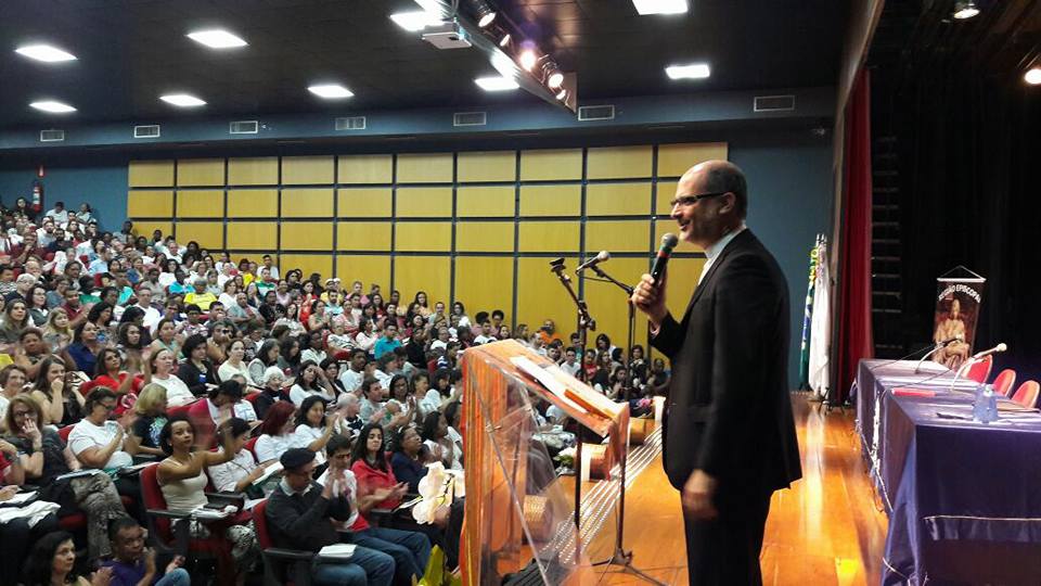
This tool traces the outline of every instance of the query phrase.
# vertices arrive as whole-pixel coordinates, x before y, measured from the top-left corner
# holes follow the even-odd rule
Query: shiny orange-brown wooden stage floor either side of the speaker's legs
[[[886,515],[875,508],[853,431],[853,412],[825,415],[805,395],[792,404],[804,477],[774,494],[763,543],[763,584],[878,584]],[[626,500],[627,549],[634,565],[666,584],[685,585],[686,560],[679,493],[660,456],[640,474]],[[601,585],[645,584],[612,568]]]

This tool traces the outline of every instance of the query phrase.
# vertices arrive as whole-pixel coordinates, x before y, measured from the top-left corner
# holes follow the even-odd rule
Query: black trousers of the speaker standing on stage
[[[770,495],[716,498],[719,515],[691,519],[683,511],[691,586],[759,586],[759,551],[770,511]]]

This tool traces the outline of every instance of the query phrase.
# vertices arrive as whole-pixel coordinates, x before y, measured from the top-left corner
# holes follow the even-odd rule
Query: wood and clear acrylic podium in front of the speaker
[[[526,359],[524,367],[518,359]],[[537,367],[543,383],[525,370]],[[534,561],[543,584],[589,584],[595,572],[576,527],[576,502],[557,482],[539,431],[538,402],[563,409],[608,437],[614,461],[625,458],[629,409],[568,375],[513,340],[463,353],[463,449],[466,508],[460,555],[463,584],[502,584]],[[579,483],[576,462],[575,482]]]

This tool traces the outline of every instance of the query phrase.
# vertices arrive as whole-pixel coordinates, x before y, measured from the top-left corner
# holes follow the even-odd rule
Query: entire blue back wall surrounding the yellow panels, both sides
[[[494,140],[481,141],[479,146],[476,143],[471,146],[474,149],[494,149],[497,145],[499,149],[551,148],[576,143],[596,145],[600,142],[646,144],[659,138],[632,132],[628,136],[615,136],[601,140],[542,139],[535,143],[518,144],[504,139],[498,143]],[[670,140],[679,139],[670,137]],[[777,257],[788,280],[792,314],[789,381],[794,388],[798,382],[798,349],[802,332],[809,251],[818,232],[831,233],[831,136],[820,137],[805,127],[758,128],[691,132],[685,133],[682,140],[727,141],[730,143],[730,160],[745,170],[749,189],[748,226]],[[458,144],[445,146],[445,149],[452,148],[460,149]],[[331,145],[319,146],[319,149],[323,153],[345,151]],[[309,146],[308,150],[313,151],[314,146]],[[394,145],[386,145],[382,152],[394,150]],[[288,148],[278,149],[278,151],[283,154],[291,153]],[[381,150],[375,149],[375,151]],[[258,153],[250,151],[233,154],[213,153],[205,149],[195,149],[185,156],[250,154]],[[51,207],[57,200],[64,201],[66,206],[73,208],[88,201],[94,207],[103,229],[118,230],[127,214],[127,161],[131,155],[107,155],[104,160],[94,158],[97,165],[93,166],[88,162],[79,161],[76,166],[49,166],[44,178],[47,207]],[[36,167],[30,164],[25,164],[22,168],[0,170],[0,196],[3,203],[11,205],[18,195],[27,195],[35,173]],[[671,190],[674,186],[663,187]]]

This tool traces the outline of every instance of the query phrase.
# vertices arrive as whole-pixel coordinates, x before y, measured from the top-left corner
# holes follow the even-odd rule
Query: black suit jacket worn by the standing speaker
[[[788,290],[744,230],[694,290],[682,321],[652,340],[672,362],[663,460],[682,488],[701,469],[727,494],[773,492],[801,475],[788,398]]]

